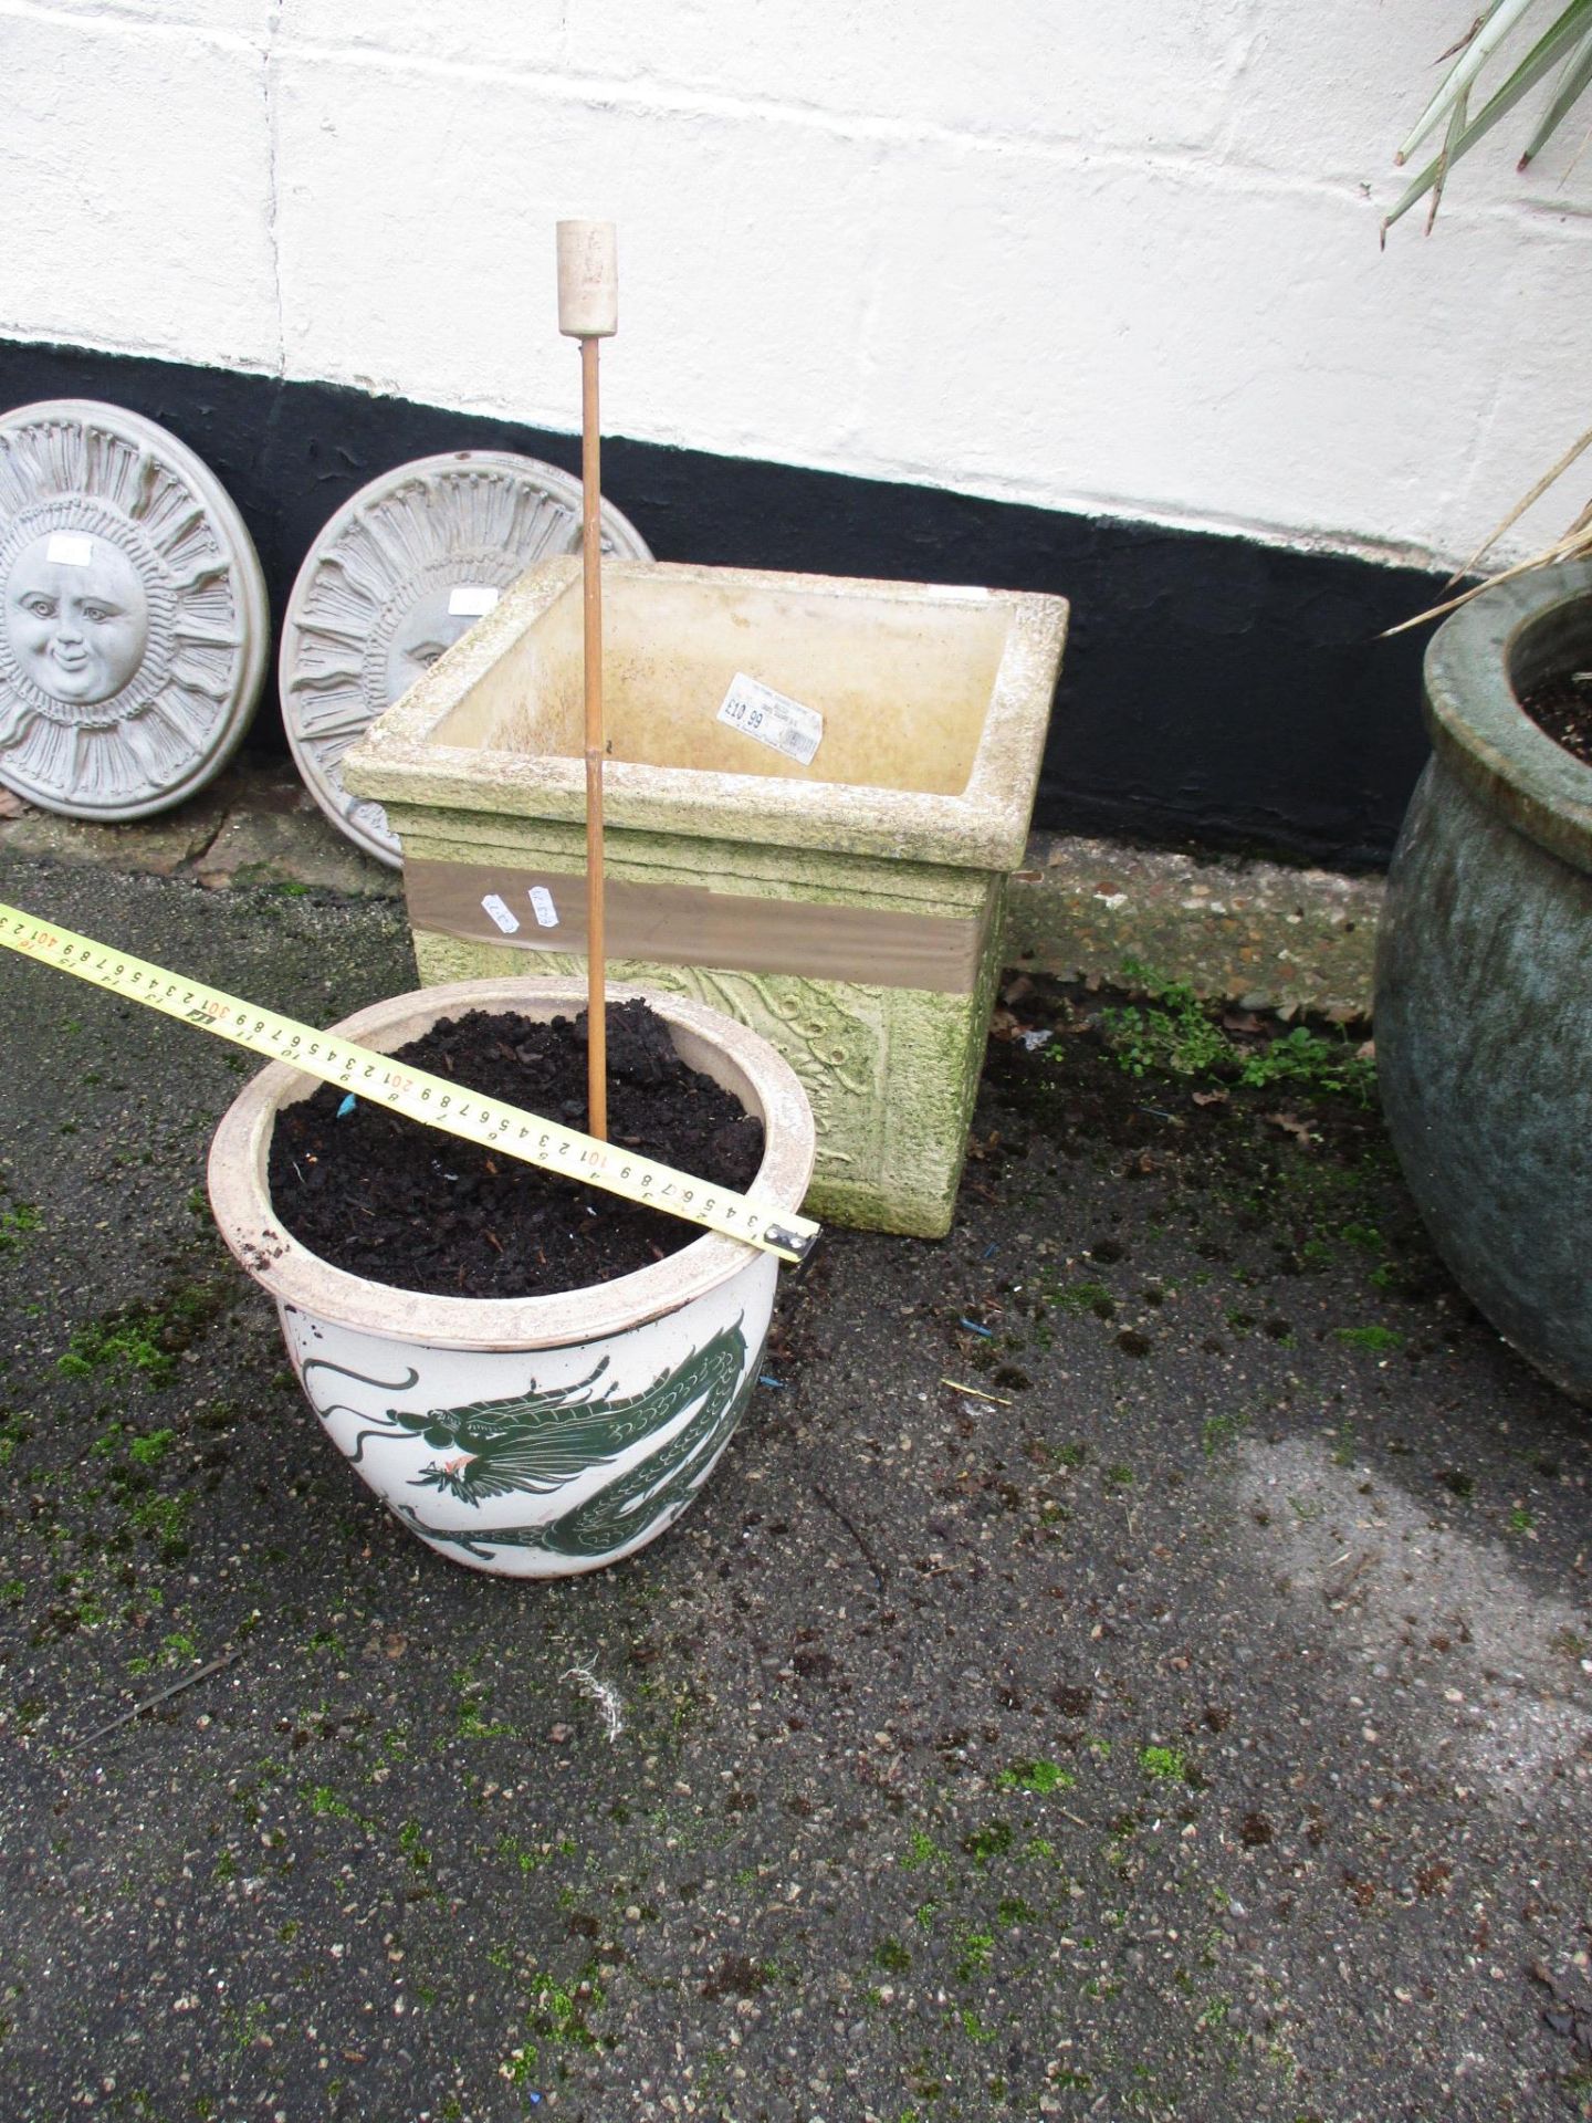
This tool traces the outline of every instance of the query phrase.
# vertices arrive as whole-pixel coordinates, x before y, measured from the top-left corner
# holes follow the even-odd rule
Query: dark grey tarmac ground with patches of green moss
[[[412,983],[380,896],[0,898]],[[1586,1418],[1369,1106],[1112,1006],[1019,983],[951,1238],[828,1233],[692,1512],[526,1588],[301,1403],[253,1064],[0,953],[0,2117],[1590,2115]]]

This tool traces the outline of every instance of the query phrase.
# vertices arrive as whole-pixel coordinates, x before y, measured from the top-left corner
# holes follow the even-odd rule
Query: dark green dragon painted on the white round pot
[[[664,1452],[643,1459],[548,1526],[461,1533],[427,1524],[412,1505],[401,1507],[401,1516],[416,1533],[467,1548],[475,1556],[484,1556],[490,1548],[546,1548],[567,1556],[601,1556],[635,1539],[660,1512],[671,1509],[673,1516],[686,1505],[734,1429],[743,1401],[737,1386],[745,1359],[747,1344],[737,1321],[700,1350],[692,1350],[677,1369],[662,1371],[643,1393],[624,1399],[613,1397],[613,1386],[594,1393],[607,1371],[605,1357],[573,1386],[539,1391],[531,1382],[524,1393],[501,1401],[425,1412],[388,1408],[382,1420],[359,1431],[350,1461],[357,1465],[363,1459],[371,1437],[422,1437],[433,1450],[450,1456],[422,1467],[412,1488],[435,1488],[480,1507],[488,1497],[548,1495],[592,1467],[607,1467],[639,1439],[667,1429],[700,1401]],[[363,1378],[325,1359],[312,1359],[304,1369],[306,1388],[310,1369]],[[382,1384],[382,1380],[365,1382]],[[414,1374],[386,1384],[399,1388],[414,1384]],[[316,1403],[316,1408],[323,1418],[340,1408],[352,1414],[346,1403],[327,1408]]]

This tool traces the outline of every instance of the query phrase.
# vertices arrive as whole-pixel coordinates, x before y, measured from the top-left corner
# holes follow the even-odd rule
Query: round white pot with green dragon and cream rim
[[[620,1002],[633,989],[609,989]],[[758,1034],[698,1002],[647,998],[690,1068],[764,1125],[747,1189],[794,1210],[813,1117]],[[461,981],[335,1025],[391,1051],[439,1017],[573,1017],[584,983]],[[550,1297],[433,1297],[344,1274],[272,1212],[276,1115],[316,1089],[272,1064],[210,1146],[221,1236],[276,1299],[323,1429],[382,1503],[439,1554],[505,1577],[565,1577],[635,1554],[686,1509],[730,1442],[768,1333],[779,1261],[703,1233],[630,1276]]]

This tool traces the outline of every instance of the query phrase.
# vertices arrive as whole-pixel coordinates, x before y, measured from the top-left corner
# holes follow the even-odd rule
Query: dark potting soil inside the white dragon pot
[[[537,1023],[467,1011],[395,1059],[586,1129],[586,1013]],[[323,1085],[272,1134],[272,1206],[310,1253],[376,1282],[444,1297],[531,1297],[626,1276],[700,1225],[526,1166]],[[745,1191],[762,1121],[686,1068],[645,1002],[607,1013],[609,1140]]]

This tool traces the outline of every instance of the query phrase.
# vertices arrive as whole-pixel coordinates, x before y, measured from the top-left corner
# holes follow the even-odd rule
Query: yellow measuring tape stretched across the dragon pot
[[[91,936],[74,936],[72,930],[38,921],[17,907],[0,904],[0,945],[21,951],[23,957],[38,957],[47,966],[59,966],[62,972],[74,972],[96,987],[108,987],[113,996],[180,1017],[183,1023],[214,1032],[236,1047],[248,1047],[267,1062],[287,1062],[306,1076],[321,1076],[323,1083],[335,1083],[371,1104],[391,1106],[412,1121],[505,1151],[529,1166],[541,1166],[543,1172],[590,1180],[624,1195],[626,1202],[669,1210],[709,1231],[724,1231],[749,1246],[762,1246],[764,1253],[777,1253],[785,1261],[802,1261],[817,1240],[819,1227],[807,1216],[760,1208],[747,1195],[711,1187],[690,1172],[675,1172],[673,1166],[599,1142],[596,1136],[582,1136],[577,1127],[560,1127],[520,1106],[505,1106],[503,1100],[463,1089],[446,1076],[405,1068],[374,1047],[357,1047],[335,1032],[299,1025],[291,1017],[278,1017],[276,1011],[261,1011],[238,996],[225,996],[219,987],[185,981],[180,972],[151,966],[127,951],[113,951]]]

